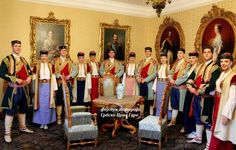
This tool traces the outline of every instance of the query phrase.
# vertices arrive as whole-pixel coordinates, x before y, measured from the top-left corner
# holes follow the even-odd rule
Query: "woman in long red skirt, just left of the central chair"
[[[96,107],[93,105],[93,100],[99,97],[99,67],[100,63],[96,62],[96,52],[89,53],[90,61],[88,62],[88,72],[91,74],[91,100],[92,100],[92,113],[96,113]]]

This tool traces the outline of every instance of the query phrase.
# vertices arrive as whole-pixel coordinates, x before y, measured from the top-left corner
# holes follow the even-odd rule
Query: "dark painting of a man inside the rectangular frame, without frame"
[[[108,52],[113,49],[117,60],[125,60],[125,30],[106,29],[105,43],[104,59],[109,58]]]

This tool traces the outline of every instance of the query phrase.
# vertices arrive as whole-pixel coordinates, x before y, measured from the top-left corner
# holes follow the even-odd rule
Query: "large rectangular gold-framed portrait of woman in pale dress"
[[[39,60],[40,50],[48,51],[50,61],[59,56],[59,47],[70,48],[70,20],[56,19],[50,12],[47,18],[30,17],[30,64],[34,66]]]

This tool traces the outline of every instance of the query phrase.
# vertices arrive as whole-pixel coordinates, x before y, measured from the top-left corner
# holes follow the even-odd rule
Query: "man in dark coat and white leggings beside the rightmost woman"
[[[213,61],[213,48],[203,48],[204,62],[195,72],[195,77],[189,80],[188,89],[194,94],[193,111],[196,122],[196,135],[188,143],[202,143],[203,123],[206,125],[207,145],[211,139],[212,111],[214,106],[215,83],[220,75],[220,68]],[[193,80],[194,79],[194,80]]]

